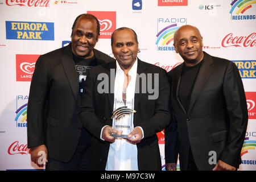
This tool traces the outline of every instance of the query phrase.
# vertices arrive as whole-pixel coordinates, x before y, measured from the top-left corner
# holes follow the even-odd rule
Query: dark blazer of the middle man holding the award
[[[112,71],[110,71],[112,69]],[[85,94],[82,95],[81,113],[79,115],[83,125],[92,133],[92,150],[90,158],[91,170],[105,170],[108,159],[109,142],[100,139],[101,129],[105,125],[112,126],[112,111],[114,104],[114,77],[116,63],[108,63],[90,69],[85,81]],[[112,78],[110,78],[112,72]],[[108,93],[98,93],[97,87],[102,80],[97,80],[100,73],[106,73],[110,78]],[[141,126],[144,138],[137,144],[139,170],[160,170],[161,160],[156,133],[163,130],[170,123],[168,112],[168,98],[170,85],[164,69],[145,63],[138,59],[137,73],[159,74],[159,97],[148,100],[150,93],[135,93],[134,96],[134,127]],[[138,77],[137,77],[138,81]],[[139,90],[142,90],[140,81]],[[152,88],[154,88],[154,82]],[[112,91],[112,92],[110,92]]]

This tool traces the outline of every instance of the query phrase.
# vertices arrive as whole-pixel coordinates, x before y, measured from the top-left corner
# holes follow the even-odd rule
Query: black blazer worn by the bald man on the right
[[[184,63],[168,72],[171,83],[171,104],[177,121],[180,169],[187,169],[189,143],[199,170],[212,170],[210,151],[218,160],[237,167],[245,138],[248,113],[242,80],[236,65],[229,60],[213,57],[204,52],[197,75],[188,113],[177,97]],[[171,125],[170,125],[171,126]],[[174,129],[169,129],[175,134]],[[166,145],[175,143],[167,137]],[[174,152],[166,154],[173,155]],[[174,158],[174,156],[168,156]],[[212,158],[210,162],[212,162]]]

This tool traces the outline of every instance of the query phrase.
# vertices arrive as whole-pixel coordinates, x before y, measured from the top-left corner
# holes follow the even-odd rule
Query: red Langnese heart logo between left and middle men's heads
[[[117,16],[115,11],[87,11],[98,18],[100,22],[100,39],[110,39],[116,28]]]

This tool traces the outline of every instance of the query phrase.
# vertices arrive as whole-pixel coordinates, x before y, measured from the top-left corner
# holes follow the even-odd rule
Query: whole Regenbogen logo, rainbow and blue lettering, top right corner
[[[251,0],[234,0],[230,3],[229,11],[232,20],[250,20],[255,19],[255,3]]]

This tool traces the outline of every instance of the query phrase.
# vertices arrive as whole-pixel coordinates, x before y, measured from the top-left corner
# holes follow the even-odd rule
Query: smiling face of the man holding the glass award
[[[130,70],[136,60],[139,44],[129,28],[114,32],[112,52],[123,70]]]

